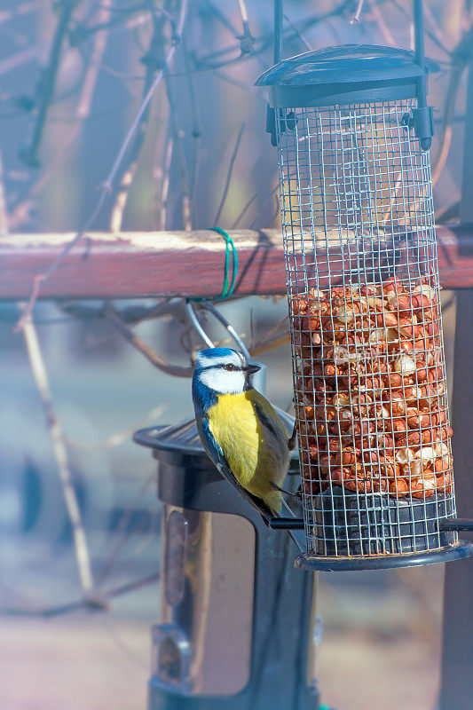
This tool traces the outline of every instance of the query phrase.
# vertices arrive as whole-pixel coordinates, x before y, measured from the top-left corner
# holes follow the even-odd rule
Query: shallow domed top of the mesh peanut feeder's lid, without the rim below
[[[438,65],[425,59],[428,74]],[[256,81],[256,86],[310,86],[314,83],[376,82],[422,76],[414,51],[372,44],[344,44],[306,51],[283,59]]]

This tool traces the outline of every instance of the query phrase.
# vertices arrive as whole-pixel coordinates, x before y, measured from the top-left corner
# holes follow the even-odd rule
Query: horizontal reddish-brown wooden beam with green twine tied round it
[[[235,295],[284,293],[279,229],[231,233],[238,249]],[[473,225],[438,226],[444,288],[473,288]],[[74,234],[10,234],[0,238],[0,298],[25,299]],[[223,285],[225,241],[207,230],[91,233],[43,282],[42,298],[217,296]],[[327,264],[324,256],[321,265]]]

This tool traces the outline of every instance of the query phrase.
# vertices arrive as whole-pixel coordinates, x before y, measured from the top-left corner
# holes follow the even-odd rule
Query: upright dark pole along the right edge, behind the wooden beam
[[[473,222],[473,61],[469,64],[461,219]],[[473,289],[457,291],[455,354],[453,361],[453,461],[460,517],[473,515]],[[445,569],[444,638],[439,710],[467,710],[472,705],[473,674],[473,564],[452,564]]]

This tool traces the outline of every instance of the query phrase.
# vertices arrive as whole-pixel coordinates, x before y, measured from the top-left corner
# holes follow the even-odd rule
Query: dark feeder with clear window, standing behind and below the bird
[[[158,462],[163,504],[149,710],[316,710],[314,577],[294,569],[288,534],[264,525],[218,473],[194,420],[135,441]]]

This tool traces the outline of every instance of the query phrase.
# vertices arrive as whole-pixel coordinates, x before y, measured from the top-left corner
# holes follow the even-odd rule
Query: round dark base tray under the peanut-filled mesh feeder
[[[455,545],[425,552],[403,555],[373,555],[353,557],[322,557],[304,553],[296,557],[295,567],[309,572],[345,572],[359,570],[389,570],[394,567],[418,567],[421,564],[450,562],[473,555],[471,542],[459,541]]]

